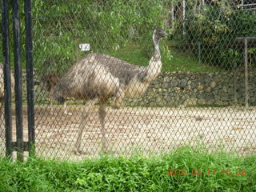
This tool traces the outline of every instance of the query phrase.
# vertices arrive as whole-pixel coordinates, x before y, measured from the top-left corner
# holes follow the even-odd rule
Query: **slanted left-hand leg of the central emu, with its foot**
[[[94,103],[97,100],[89,100],[88,102],[86,102],[86,106],[84,108],[84,110],[82,111],[82,117],[81,117],[81,123],[79,126],[79,130],[78,130],[78,136],[77,136],[77,141],[74,144],[74,151],[76,154],[89,154],[88,152],[84,152],[82,150],[80,150],[80,146],[81,146],[81,140],[82,140],[82,130],[85,128],[85,124],[86,124],[86,118],[88,117],[88,114],[90,112],[90,110],[92,109],[92,107],[94,106]]]

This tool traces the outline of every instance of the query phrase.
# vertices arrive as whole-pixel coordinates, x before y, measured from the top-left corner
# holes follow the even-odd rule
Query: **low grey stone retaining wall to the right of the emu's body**
[[[249,75],[249,105],[256,105],[256,74]],[[166,72],[151,83],[142,98],[127,106],[230,106],[245,104],[241,73]]]

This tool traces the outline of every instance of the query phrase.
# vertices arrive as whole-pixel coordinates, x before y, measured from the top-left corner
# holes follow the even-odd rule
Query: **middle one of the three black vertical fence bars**
[[[15,111],[17,158],[23,161],[23,130],[22,130],[22,67],[20,50],[19,0],[13,0],[14,28],[14,74],[15,74]]]

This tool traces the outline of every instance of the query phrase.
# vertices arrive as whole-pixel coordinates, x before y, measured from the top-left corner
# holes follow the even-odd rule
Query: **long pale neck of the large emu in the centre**
[[[147,77],[146,79],[150,82],[158,77],[158,74],[161,72],[162,61],[161,54],[158,45],[159,41],[155,41],[154,39],[154,54],[152,58],[150,58],[149,66],[147,66]]]

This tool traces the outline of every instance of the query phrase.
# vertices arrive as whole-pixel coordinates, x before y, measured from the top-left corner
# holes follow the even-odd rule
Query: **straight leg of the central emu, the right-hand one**
[[[104,153],[107,152],[108,144],[106,141],[106,130],[105,130],[105,117],[106,117],[106,102],[102,102],[101,106],[98,109],[98,116],[101,122],[101,132],[102,132],[102,150]]]

